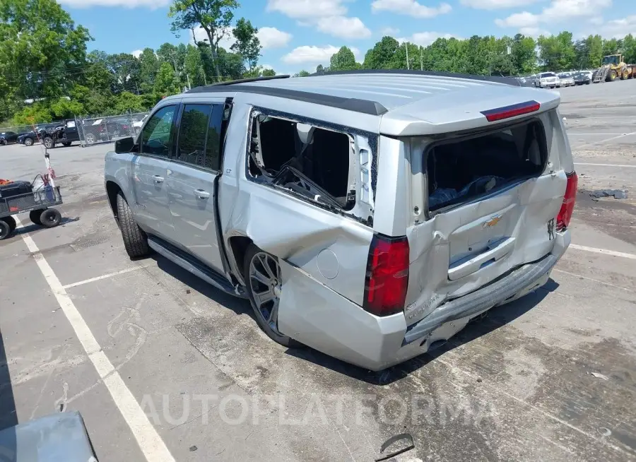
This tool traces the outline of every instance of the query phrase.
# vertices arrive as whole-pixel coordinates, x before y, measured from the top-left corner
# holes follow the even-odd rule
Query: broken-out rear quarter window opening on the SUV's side
[[[249,174],[324,205],[350,210],[355,182],[347,134],[258,114],[252,119]]]

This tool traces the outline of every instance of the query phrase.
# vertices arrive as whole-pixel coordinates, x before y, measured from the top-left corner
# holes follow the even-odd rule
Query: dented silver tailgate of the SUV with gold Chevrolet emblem
[[[501,186],[497,181],[490,192],[466,201],[455,200],[450,206],[430,211],[428,219],[416,218],[408,227],[411,264],[405,308],[407,325],[419,321],[443,302],[466,295],[550,253],[554,246],[555,217],[567,184],[565,172],[559,167],[559,153],[567,145],[561,141],[558,112],[553,110],[533,119],[545,129],[541,135],[544,139],[539,140],[543,145],[540,149],[545,152],[536,174],[520,175],[519,179],[502,182]],[[479,155],[478,144],[468,138],[457,152]],[[536,140],[520,139],[518,145],[522,150],[531,150],[529,158],[538,161]],[[428,148],[422,146],[414,149],[413,155],[423,153],[426,159],[427,152]],[[510,155],[514,155],[514,148],[510,149]],[[485,172],[489,168],[496,172],[500,167],[489,166],[488,162],[492,160],[477,158],[473,165],[483,164]],[[424,160],[422,167],[430,206],[433,201],[428,193],[428,182],[433,181],[430,162]],[[457,170],[462,168],[457,166]],[[421,185],[421,181],[413,182],[413,187],[421,189]]]

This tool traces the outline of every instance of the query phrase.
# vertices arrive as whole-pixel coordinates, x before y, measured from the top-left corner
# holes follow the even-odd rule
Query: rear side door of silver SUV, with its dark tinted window
[[[223,100],[184,104],[176,130],[177,149],[167,170],[175,241],[220,273],[214,184],[220,170],[222,124]]]

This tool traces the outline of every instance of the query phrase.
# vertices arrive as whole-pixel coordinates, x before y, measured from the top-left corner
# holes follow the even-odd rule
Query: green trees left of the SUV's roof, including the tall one
[[[187,33],[191,43],[164,43],[136,57],[88,52],[90,32],[55,0],[0,0],[0,123],[141,112],[184,88],[274,75],[259,66],[258,29],[245,18],[234,20],[238,6],[235,0],[175,0],[172,31]],[[199,25],[204,40],[194,33]],[[219,42],[229,35],[235,43],[223,49]]]

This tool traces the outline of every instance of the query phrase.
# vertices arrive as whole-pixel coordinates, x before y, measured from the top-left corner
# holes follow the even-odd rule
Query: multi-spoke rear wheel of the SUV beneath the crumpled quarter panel
[[[245,252],[243,268],[249,303],[252,304],[254,317],[262,331],[285,347],[302,345],[278,331],[278,306],[281,302],[283,280],[276,256],[250,244]]]

